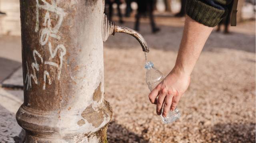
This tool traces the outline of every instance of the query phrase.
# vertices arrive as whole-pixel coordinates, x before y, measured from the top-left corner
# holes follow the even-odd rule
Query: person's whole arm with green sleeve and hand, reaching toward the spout
[[[166,117],[190,84],[190,75],[213,27],[228,13],[233,0],[187,0],[186,20],[174,68],[148,95],[156,113]],[[162,112],[163,108],[163,112]]]

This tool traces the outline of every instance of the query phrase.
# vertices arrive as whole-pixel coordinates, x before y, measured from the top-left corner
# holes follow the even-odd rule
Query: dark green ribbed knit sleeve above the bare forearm
[[[214,27],[227,13],[232,0],[186,0],[186,14],[193,20]]]

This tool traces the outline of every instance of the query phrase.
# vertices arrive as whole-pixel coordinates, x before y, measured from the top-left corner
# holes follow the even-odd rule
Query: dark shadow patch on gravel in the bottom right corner
[[[219,123],[212,127],[212,135],[214,143],[255,143],[255,123]]]

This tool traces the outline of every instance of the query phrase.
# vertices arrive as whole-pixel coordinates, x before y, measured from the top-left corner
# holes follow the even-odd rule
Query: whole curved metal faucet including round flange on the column
[[[102,28],[103,41],[106,41],[109,35],[111,34],[115,35],[115,32],[122,32],[122,33],[130,34],[131,36],[136,38],[138,42],[140,42],[142,50],[144,52],[149,52],[148,45],[145,39],[143,38],[143,36],[139,32],[132,30],[128,27],[117,26],[114,22],[109,21],[105,14],[103,16],[102,25],[103,25],[103,28]]]

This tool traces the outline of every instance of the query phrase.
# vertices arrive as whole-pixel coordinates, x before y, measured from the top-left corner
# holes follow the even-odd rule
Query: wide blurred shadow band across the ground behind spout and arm
[[[133,22],[126,22],[124,26],[134,28]],[[159,50],[177,51],[182,38],[183,27],[159,26],[161,31],[157,34],[151,33],[150,24],[144,23],[140,26],[140,33],[144,36],[149,48]],[[114,43],[114,44],[113,44]],[[138,41],[128,34],[116,33],[105,42],[108,48],[134,48],[139,47]],[[214,48],[228,48],[255,53],[255,35],[232,32],[223,34],[213,31],[206,42],[204,51],[212,51]]]

